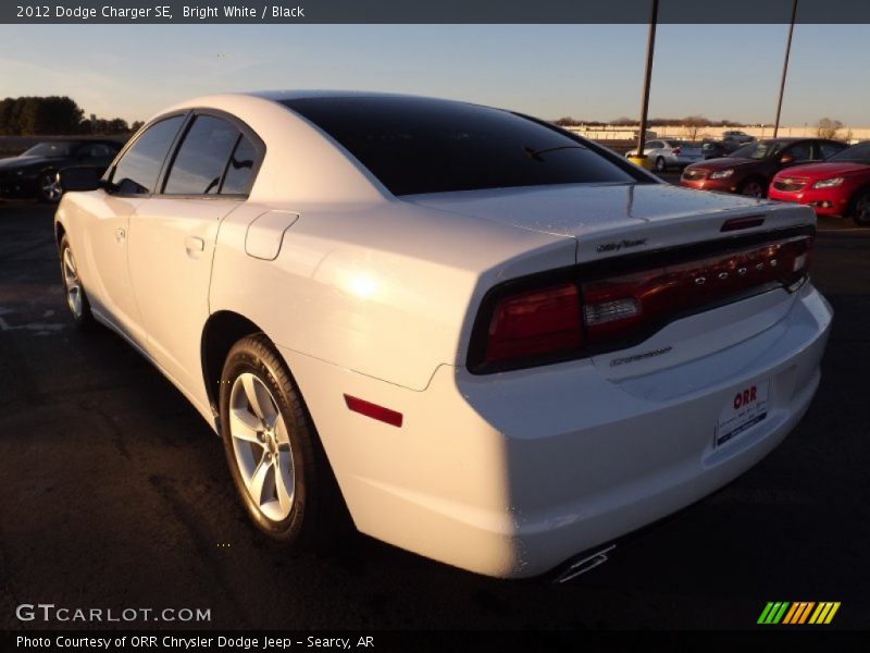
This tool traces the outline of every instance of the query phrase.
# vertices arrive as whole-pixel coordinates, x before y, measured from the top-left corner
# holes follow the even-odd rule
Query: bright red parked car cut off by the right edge
[[[808,205],[819,215],[842,215],[870,226],[870,140],[824,163],[783,170],[773,177],[768,196]]]

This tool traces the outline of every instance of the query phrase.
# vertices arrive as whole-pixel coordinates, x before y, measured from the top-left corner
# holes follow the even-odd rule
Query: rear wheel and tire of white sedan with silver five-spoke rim
[[[320,438],[289,370],[262,333],[233,345],[220,389],[229,473],[260,531],[295,545],[341,534],[347,508]]]

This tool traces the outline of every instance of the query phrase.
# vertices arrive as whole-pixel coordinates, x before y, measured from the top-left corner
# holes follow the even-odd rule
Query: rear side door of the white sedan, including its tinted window
[[[246,125],[195,112],[159,193],[130,215],[129,270],[148,349],[203,405],[200,338],[217,229],[246,199],[262,153]]]

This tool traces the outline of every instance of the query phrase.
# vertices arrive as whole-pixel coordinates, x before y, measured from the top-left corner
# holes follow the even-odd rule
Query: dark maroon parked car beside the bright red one
[[[683,171],[680,185],[765,197],[773,175],[783,168],[823,161],[846,147],[845,143],[825,138],[755,140],[721,159],[693,163]]]

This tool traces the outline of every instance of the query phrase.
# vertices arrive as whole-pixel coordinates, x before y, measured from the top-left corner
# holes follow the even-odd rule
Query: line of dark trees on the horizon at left
[[[66,96],[5,98],[0,100],[0,135],[47,136],[72,134],[128,134],[141,126],[123,118],[85,118],[85,111]]]

